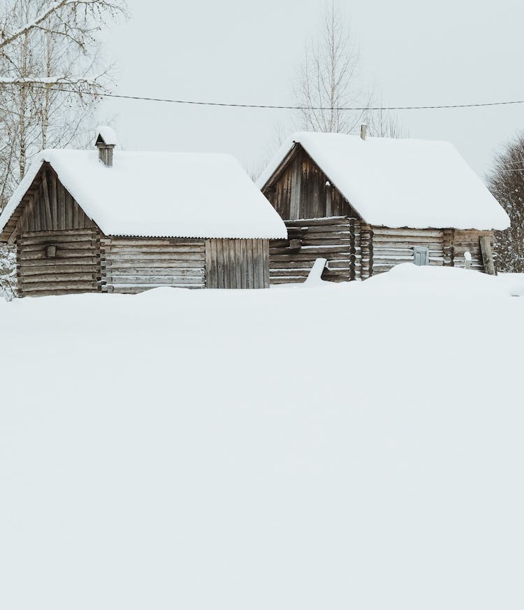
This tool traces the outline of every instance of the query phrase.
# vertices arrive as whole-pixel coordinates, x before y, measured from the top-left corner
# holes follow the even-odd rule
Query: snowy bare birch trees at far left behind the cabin
[[[3,1],[0,212],[36,152],[78,145],[92,127],[112,83],[96,34],[126,15],[124,0]]]

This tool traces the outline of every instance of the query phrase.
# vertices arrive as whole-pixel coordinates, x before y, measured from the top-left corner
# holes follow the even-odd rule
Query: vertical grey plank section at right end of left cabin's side
[[[269,288],[267,239],[207,239],[208,288]]]

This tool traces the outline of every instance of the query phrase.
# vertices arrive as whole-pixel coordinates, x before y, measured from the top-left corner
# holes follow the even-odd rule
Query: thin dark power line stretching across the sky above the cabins
[[[229,104],[221,101],[196,101],[189,99],[170,99],[166,97],[142,97],[139,95],[122,95],[117,93],[78,92],[64,87],[38,87],[52,89],[63,93],[74,93],[78,95],[92,95],[93,97],[106,97],[117,99],[135,99],[140,101],[159,101],[166,104],[186,104],[189,106],[219,106],[221,108],[267,108],[270,110],[312,110],[312,111],[399,111],[399,110],[439,110],[444,108],[485,108],[487,106],[510,106],[524,104],[524,99],[512,101],[486,101],[474,104],[441,104],[432,106],[341,106],[330,108],[327,106],[277,106],[274,104]]]

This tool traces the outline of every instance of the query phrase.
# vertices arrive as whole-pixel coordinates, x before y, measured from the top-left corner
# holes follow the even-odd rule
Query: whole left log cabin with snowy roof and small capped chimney
[[[0,216],[21,297],[268,288],[284,222],[230,155],[45,150]]]

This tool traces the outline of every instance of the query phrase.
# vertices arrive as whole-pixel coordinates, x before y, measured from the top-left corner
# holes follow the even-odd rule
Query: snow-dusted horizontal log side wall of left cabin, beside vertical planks
[[[103,237],[101,267],[103,292],[205,288],[204,240]]]

